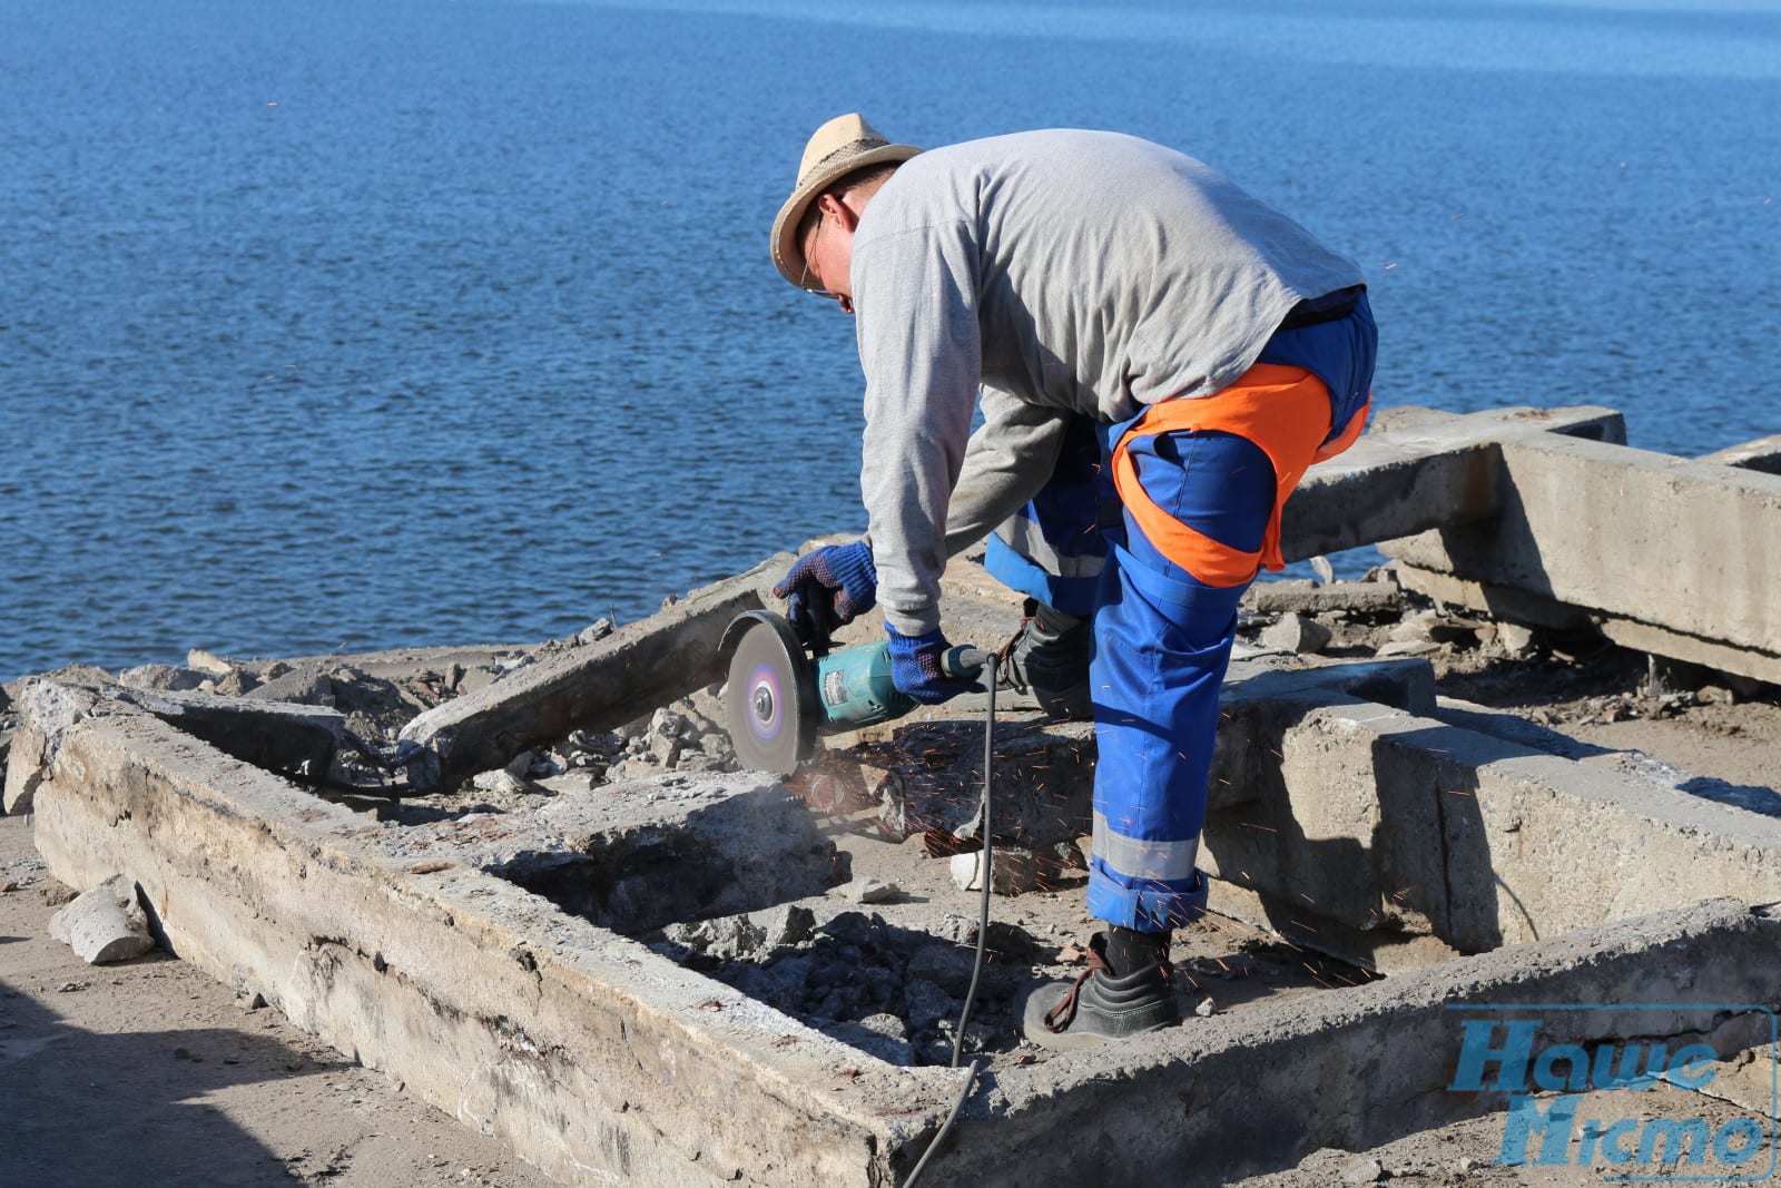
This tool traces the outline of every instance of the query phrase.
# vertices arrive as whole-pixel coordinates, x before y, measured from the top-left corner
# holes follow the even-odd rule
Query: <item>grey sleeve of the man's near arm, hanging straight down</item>
[[[855,240],[853,308],[866,370],[866,500],[878,602],[901,634],[940,625],[953,486],[976,406],[976,255],[964,221]]]

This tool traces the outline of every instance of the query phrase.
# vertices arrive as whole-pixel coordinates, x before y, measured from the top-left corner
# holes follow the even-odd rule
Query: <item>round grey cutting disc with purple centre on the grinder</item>
[[[737,634],[739,632],[739,634]],[[750,611],[725,632],[736,641],[725,711],[744,768],[791,775],[816,741],[816,677],[778,614]]]

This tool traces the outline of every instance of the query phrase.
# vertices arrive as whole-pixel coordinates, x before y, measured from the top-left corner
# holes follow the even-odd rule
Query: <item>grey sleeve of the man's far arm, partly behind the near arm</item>
[[[964,552],[1038,493],[1058,463],[1067,417],[983,385],[983,424],[946,511],[946,556]]]

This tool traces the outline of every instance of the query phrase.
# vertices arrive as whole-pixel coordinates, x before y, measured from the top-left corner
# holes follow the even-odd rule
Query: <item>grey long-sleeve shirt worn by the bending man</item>
[[[860,217],[851,283],[878,600],[921,634],[946,557],[1049,477],[1061,413],[1211,395],[1361,271],[1191,157],[1053,130],[903,164]]]

